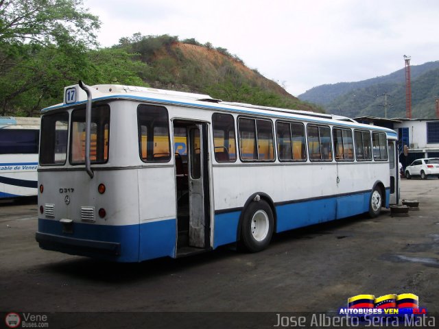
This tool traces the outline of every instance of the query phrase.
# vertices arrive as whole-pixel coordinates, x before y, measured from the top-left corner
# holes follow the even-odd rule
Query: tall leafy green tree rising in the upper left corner
[[[99,24],[82,0],[0,0],[1,114],[32,115],[59,99],[61,83],[87,73]]]

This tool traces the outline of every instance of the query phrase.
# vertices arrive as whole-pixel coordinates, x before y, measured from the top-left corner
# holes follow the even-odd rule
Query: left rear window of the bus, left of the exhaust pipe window
[[[69,113],[45,114],[41,119],[40,164],[64,164],[67,158]]]

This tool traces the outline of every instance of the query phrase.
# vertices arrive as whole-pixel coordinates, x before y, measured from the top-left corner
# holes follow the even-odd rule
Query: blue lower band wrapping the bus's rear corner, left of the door
[[[110,226],[93,223],[73,223],[73,233],[63,233],[62,223],[51,219],[38,219],[38,232],[65,236],[69,239],[105,241],[120,243],[119,256],[97,254],[93,250],[78,252],[74,246],[56,245],[43,249],[66,252],[80,256],[90,256],[117,262],[138,262],[162,256],[175,257],[176,220],[153,221],[150,223]]]

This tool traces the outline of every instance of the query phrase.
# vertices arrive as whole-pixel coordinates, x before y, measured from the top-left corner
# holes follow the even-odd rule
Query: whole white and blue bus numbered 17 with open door
[[[43,249],[179,257],[399,201],[396,132],[346,117],[134,86],[69,86],[42,110]]]

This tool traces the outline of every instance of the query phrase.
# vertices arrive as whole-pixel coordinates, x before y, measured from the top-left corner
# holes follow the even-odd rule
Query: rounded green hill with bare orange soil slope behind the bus
[[[147,64],[145,82],[154,88],[206,93],[213,98],[261,106],[322,112],[322,108],[287,93],[249,69],[244,61],[222,47],[177,36],[122,38],[114,48],[135,54]]]

